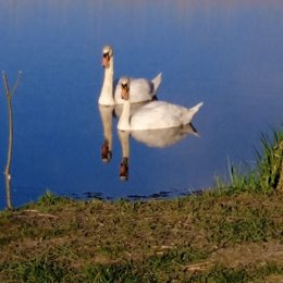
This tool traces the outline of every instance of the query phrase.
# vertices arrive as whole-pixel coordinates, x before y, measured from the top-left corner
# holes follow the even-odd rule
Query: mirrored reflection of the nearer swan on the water
[[[128,180],[130,169],[130,137],[137,142],[156,148],[168,148],[188,135],[199,136],[194,125],[187,124],[180,127],[162,128],[162,130],[145,130],[145,131],[118,131],[122,148],[122,161],[120,164],[120,180]]]

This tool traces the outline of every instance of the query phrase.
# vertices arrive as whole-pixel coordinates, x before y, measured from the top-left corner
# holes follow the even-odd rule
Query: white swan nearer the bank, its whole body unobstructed
[[[121,85],[121,96],[124,99],[124,103],[118,123],[118,130],[120,131],[157,130],[183,126],[190,123],[194,115],[202,106],[202,102],[200,102],[193,108],[185,108],[165,101],[151,101],[131,116],[131,81],[127,77],[122,77]]]

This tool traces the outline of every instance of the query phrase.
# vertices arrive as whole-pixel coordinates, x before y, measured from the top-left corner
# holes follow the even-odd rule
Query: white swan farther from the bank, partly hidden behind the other
[[[114,60],[113,49],[110,46],[103,47],[102,50],[102,66],[104,69],[104,79],[102,83],[101,93],[98,103],[102,106],[114,106],[123,103],[121,98],[121,79],[115,85],[113,83]],[[131,79],[131,103],[152,100],[158,87],[162,81],[162,74],[158,74],[151,81],[146,78],[130,78]],[[114,94],[114,95],[113,95]]]

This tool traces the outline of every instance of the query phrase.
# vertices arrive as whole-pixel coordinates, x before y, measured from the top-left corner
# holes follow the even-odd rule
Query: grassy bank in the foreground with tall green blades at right
[[[0,282],[280,282],[282,133],[258,165],[198,196],[76,201],[0,213]]]

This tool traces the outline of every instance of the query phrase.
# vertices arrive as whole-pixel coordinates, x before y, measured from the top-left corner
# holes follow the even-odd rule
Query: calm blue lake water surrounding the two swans
[[[23,72],[13,97],[13,206],[47,189],[74,197],[174,196],[212,186],[216,175],[227,174],[227,159],[253,165],[261,133],[282,126],[282,0],[0,0],[0,71],[11,87]],[[125,137],[127,182],[119,179],[115,118],[111,162],[100,155],[106,44],[114,49],[115,77],[162,72],[160,100],[205,102],[193,121],[199,137],[188,134],[167,148]],[[3,172],[8,108],[0,85]]]

